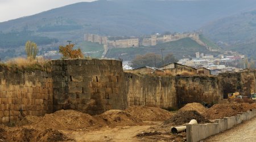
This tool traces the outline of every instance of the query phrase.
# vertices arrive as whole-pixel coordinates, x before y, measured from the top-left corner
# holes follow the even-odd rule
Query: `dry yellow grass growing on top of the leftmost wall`
[[[33,72],[35,70],[51,72],[51,60],[43,58],[28,60],[22,57],[18,57],[0,63],[0,71],[2,70],[9,70],[11,72]]]

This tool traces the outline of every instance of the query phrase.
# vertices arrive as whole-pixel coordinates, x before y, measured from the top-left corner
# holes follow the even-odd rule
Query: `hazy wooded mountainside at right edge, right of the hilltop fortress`
[[[256,59],[256,10],[216,20],[201,31],[223,49]]]

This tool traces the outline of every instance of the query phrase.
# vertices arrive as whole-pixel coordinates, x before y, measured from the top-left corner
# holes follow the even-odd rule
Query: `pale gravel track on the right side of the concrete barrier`
[[[211,136],[204,141],[255,141],[256,140],[256,118],[248,120],[228,131]]]

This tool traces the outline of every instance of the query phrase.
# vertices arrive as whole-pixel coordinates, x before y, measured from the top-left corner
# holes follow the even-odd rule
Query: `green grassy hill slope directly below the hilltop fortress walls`
[[[196,41],[190,38],[184,38],[177,41],[171,41],[168,43],[157,44],[151,47],[138,47],[138,48],[113,48],[110,49],[107,57],[115,59],[123,59],[124,61],[133,60],[136,55],[144,55],[145,53],[154,52],[161,55],[161,49],[163,55],[173,53],[177,59],[186,57],[195,57],[196,52],[211,53],[217,55],[218,52],[210,52],[206,47],[203,47],[196,43]]]

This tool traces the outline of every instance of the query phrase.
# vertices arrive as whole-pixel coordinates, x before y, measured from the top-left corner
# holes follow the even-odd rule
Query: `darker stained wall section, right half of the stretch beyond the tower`
[[[217,77],[175,77],[177,105],[192,102],[217,103],[222,98],[220,83]]]

